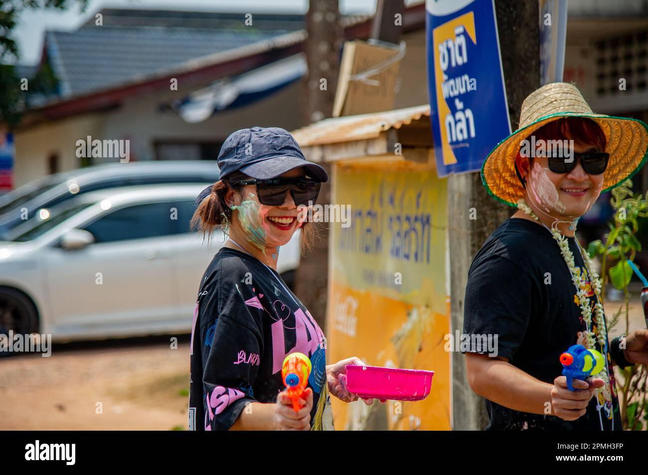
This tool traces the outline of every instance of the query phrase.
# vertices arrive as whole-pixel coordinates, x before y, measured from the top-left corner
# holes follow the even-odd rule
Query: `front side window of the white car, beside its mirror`
[[[174,210],[176,201],[133,204],[100,217],[84,229],[95,237],[95,243],[177,234]]]

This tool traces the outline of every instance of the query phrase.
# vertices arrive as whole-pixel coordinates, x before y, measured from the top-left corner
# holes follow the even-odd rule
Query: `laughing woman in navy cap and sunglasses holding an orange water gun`
[[[290,133],[252,127],[230,135],[218,155],[220,181],[206,188],[192,225],[227,241],[203,275],[191,333],[190,430],[332,429],[329,393],[358,399],[346,388],[345,366],[326,365],[323,332],[277,273],[279,247],[312,226],[300,212],[315,203],[329,177],[308,162]],[[281,368],[286,355],[312,362],[302,406],[295,412]],[[371,404],[372,400],[365,403]]]

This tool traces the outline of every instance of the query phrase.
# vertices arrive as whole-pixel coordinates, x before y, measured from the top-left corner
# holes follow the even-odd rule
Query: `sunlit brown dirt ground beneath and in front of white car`
[[[608,315],[620,305],[609,302]],[[638,293],[630,314],[631,331],[645,328]],[[623,331],[625,320],[610,338]],[[189,335],[170,346],[170,337],[130,338],[1,358],[0,430],[186,430]]]

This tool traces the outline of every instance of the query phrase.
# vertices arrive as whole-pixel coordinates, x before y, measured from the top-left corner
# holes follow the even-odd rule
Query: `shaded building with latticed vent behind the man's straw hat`
[[[648,122],[648,2],[569,0],[564,80],[575,82],[597,113]],[[648,191],[648,167],[632,179],[635,192]],[[583,217],[588,241],[607,232],[610,193],[603,193]],[[648,242],[645,221],[638,235]],[[640,265],[648,259],[637,256]]]

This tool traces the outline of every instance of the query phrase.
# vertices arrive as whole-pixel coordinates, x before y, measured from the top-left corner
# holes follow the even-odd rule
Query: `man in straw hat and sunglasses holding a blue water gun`
[[[464,333],[498,336],[496,357],[466,355],[488,429],[621,429],[612,366],[648,364],[648,330],[608,341],[601,279],[574,232],[647,152],[646,124],[594,114],[574,85],[551,83],[529,94],[520,128],[485,160],[483,185],[518,207],[475,256],[466,287]],[[606,361],[570,391],[560,356],[575,344]]]

